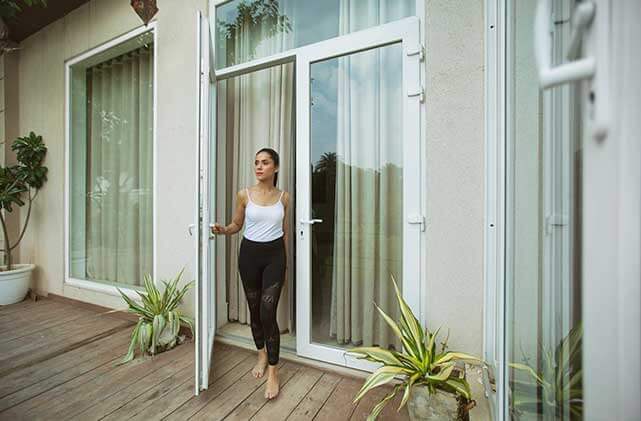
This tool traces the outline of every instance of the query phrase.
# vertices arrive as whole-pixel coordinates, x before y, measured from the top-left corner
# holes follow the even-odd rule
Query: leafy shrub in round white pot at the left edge
[[[11,145],[16,153],[18,163],[12,166],[0,166],[0,223],[4,239],[4,265],[0,266],[0,304],[13,304],[22,301],[29,291],[33,264],[14,264],[13,250],[24,237],[31,217],[31,207],[38,191],[47,181],[47,167],[43,166],[47,148],[42,136],[34,132],[19,137]],[[27,205],[27,215],[18,239],[11,243],[7,230],[7,213],[13,212],[14,206]]]

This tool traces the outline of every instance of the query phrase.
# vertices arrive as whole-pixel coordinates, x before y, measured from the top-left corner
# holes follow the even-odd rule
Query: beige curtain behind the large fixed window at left
[[[153,48],[87,69],[86,275],[152,271]]]

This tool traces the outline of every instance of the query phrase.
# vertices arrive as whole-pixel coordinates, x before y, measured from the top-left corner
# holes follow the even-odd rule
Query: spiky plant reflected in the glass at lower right
[[[527,364],[510,364],[528,378],[525,382],[513,380],[512,401],[517,415],[543,411],[561,417],[565,410],[569,410],[572,419],[582,418],[582,342],[583,327],[578,324],[557,344],[554,352],[551,348],[541,349],[540,370]]]

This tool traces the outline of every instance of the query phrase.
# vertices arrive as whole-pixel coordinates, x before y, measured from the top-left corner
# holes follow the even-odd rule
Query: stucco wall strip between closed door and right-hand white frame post
[[[483,343],[483,1],[426,2],[427,323]]]

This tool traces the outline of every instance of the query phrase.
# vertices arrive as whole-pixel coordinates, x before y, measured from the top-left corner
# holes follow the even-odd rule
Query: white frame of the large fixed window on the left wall
[[[69,250],[69,229],[70,229],[70,170],[71,170],[71,67],[83,60],[86,60],[96,54],[107,51],[123,42],[129,41],[141,34],[150,32],[153,34],[154,39],[154,60],[153,60],[153,136],[152,136],[152,166],[153,166],[153,181],[152,181],[152,235],[153,235],[153,244],[152,244],[152,278],[154,282],[156,280],[156,265],[157,265],[157,200],[158,200],[158,186],[157,186],[157,89],[158,89],[158,26],[156,21],[150,22],[147,26],[139,26],[123,35],[120,35],[116,38],[111,39],[110,41],[105,42],[97,47],[94,47],[84,53],[81,53],[73,58],[70,58],[65,61],[65,192],[64,192],[64,209],[65,209],[65,222],[64,222],[64,285],[72,286],[81,289],[86,289],[90,291],[95,291],[115,297],[120,297],[118,289],[122,290],[127,296],[133,299],[139,299],[140,297],[136,293],[140,288],[120,284],[118,286],[111,283],[102,283],[97,280],[90,279],[79,279],[71,277],[70,273],[70,250]]]

